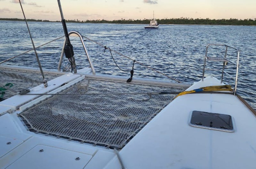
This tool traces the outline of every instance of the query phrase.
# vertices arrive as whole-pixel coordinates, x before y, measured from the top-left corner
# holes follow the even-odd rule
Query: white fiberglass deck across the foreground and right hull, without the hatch
[[[188,90],[208,85],[221,84],[205,78]],[[232,116],[234,132],[189,125],[194,110]],[[27,131],[16,113],[7,113],[0,116],[0,168],[120,169],[122,162],[127,169],[254,169],[255,124],[255,115],[232,94],[181,95],[118,151],[118,160],[112,149]]]

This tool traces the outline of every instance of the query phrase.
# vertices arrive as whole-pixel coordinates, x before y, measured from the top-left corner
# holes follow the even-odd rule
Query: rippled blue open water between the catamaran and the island
[[[61,23],[28,22],[35,46],[40,46],[64,35]],[[160,25],[158,30],[145,30],[141,24],[79,24],[67,23],[69,31],[78,31],[86,40],[96,74],[130,77],[134,65],[134,77],[166,79],[181,82],[195,82],[202,79],[205,47],[207,44],[227,44],[240,49],[237,93],[256,109],[256,27],[255,26],[212,26],[212,25]],[[0,62],[32,49],[31,39],[25,22],[0,21]],[[77,69],[88,67],[80,39],[70,37],[74,47]],[[37,49],[43,68],[56,69],[64,38]],[[97,43],[95,43],[97,42]],[[104,46],[111,48],[104,52]],[[117,52],[119,53],[117,53]],[[121,55],[120,55],[121,53]],[[214,53],[221,55],[222,53]],[[124,57],[126,56],[126,57]],[[127,58],[128,57],[128,58]],[[228,57],[236,59],[234,52]],[[118,67],[122,69],[121,71]],[[64,57],[62,68],[68,61]],[[3,65],[36,67],[32,50]],[[212,63],[214,69],[221,69],[221,63]],[[150,68],[172,77],[152,71]],[[228,64],[227,72],[235,77],[235,66]],[[220,72],[206,71],[205,76]],[[234,80],[224,77],[233,85]]]

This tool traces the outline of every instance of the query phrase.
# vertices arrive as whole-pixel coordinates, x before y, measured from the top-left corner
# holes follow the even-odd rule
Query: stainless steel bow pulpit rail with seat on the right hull
[[[207,51],[208,51],[208,47],[209,47],[210,45],[226,46],[225,56],[224,56],[224,57],[207,57]],[[227,52],[228,52],[228,48],[232,48],[232,49],[237,50],[236,76],[235,76],[235,78],[231,77],[231,75],[229,75],[227,72],[224,71],[224,67],[226,66],[227,62],[229,61],[229,60],[226,59],[226,57],[227,57]],[[222,61],[222,62],[223,62],[223,67],[222,67],[221,83],[222,83],[222,80],[223,80],[223,75],[224,75],[224,73],[225,73],[226,75],[228,75],[229,77],[231,77],[232,79],[234,79],[234,80],[235,80],[234,95],[235,95],[236,88],[237,88],[239,55],[240,55],[240,50],[237,49],[237,48],[235,48],[235,47],[231,47],[231,46],[224,45],[224,44],[208,44],[208,45],[206,46],[205,57],[204,57],[204,67],[203,67],[203,77],[202,77],[202,81],[204,80],[204,71],[205,71],[206,60]]]

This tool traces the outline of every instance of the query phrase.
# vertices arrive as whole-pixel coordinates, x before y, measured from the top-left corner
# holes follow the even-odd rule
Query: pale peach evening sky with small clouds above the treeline
[[[27,19],[61,20],[57,0],[21,0]],[[255,19],[256,0],[60,0],[66,20]],[[0,18],[23,19],[19,0],[0,0]]]

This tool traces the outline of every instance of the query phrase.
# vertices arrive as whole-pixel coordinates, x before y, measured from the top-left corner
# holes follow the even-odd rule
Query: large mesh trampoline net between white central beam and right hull
[[[23,111],[30,131],[121,149],[157,115],[174,94],[108,94],[180,92],[166,87],[86,78],[62,93]],[[74,95],[80,93],[81,95]],[[101,94],[82,94],[101,93]]]

